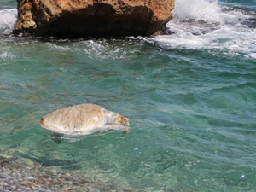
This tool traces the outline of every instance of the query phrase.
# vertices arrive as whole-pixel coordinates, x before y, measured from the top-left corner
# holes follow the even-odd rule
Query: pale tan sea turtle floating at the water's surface
[[[61,108],[46,114],[40,125],[65,135],[90,135],[97,131],[129,131],[129,119],[95,104]]]

